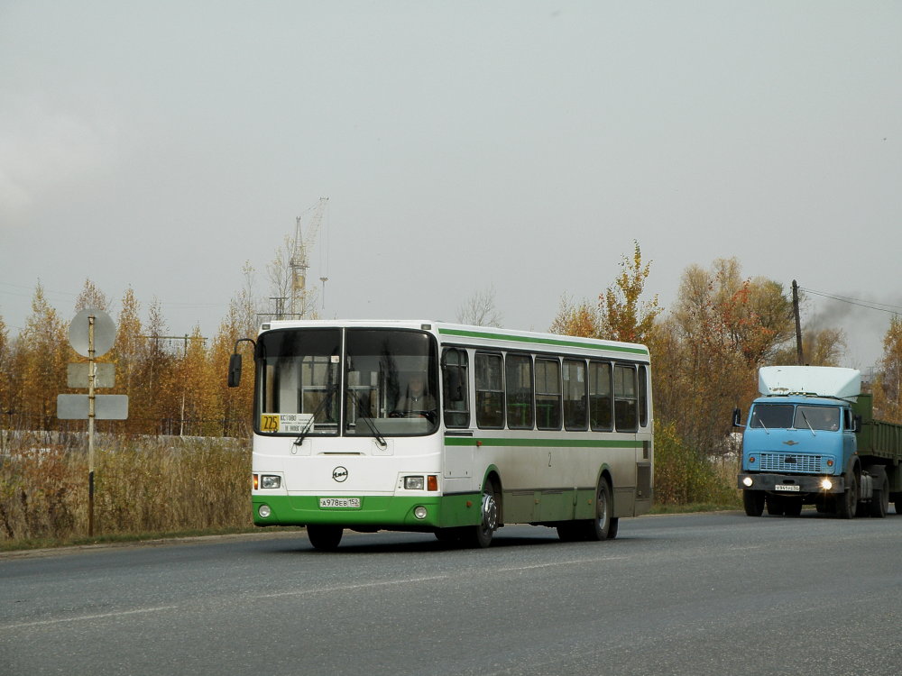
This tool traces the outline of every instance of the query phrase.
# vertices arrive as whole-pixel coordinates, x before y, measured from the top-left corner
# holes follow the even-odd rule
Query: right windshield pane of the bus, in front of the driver
[[[345,434],[398,436],[437,429],[437,348],[428,333],[348,329]]]

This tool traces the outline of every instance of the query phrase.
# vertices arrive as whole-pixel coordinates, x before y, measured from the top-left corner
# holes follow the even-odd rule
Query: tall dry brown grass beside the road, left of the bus
[[[0,455],[0,546],[87,534],[87,442],[20,435]],[[123,438],[95,443],[96,535],[252,525],[250,443]]]

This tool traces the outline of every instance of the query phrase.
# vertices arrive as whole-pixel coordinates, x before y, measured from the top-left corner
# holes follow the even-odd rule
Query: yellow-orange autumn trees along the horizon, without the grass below
[[[650,274],[651,262],[642,260],[639,242],[634,242],[634,251],[621,260],[620,274],[596,299],[574,302],[562,297],[549,331],[648,344],[657,430],[667,430],[675,443],[686,444],[700,457],[723,454],[732,450],[732,409],[748,410],[757,395],[759,367],[796,363],[790,292],[773,279],[744,277],[735,258],[718,259],[709,268],[688,266],[676,301],[665,310],[657,296],[648,299]],[[253,378],[228,388],[226,371],[235,341],[258,330],[257,301],[250,288],[247,284],[236,293],[216,335],[207,338],[199,327],[184,338],[167,336],[159,304],[143,313],[133,290],[126,289],[117,302],[113,348],[97,361],[115,366],[115,387],[98,394],[127,395],[129,416],[97,421],[97,429],[114,434],[249,435]],[[73,310],[106,311],[110,306],[110,297],[87,279]],[[68,364],[87,361],[69,346],[68,330],[69,319],[47,302],[40,284],[32,313],[17,336],[9,334],[0,315],[0,427],[85,429],[82,421],[57,418],[57,395],[86,391],[67,387]],[[802,334],[805,363],[842,363],[842,330],[804,325]],[[879,367],[871,382],[875,417],[902,422],[898,316],[890,320]]]

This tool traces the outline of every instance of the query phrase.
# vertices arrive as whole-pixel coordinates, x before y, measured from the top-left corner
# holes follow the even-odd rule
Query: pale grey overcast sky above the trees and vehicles
[[[900,76],[899,2],[0,0],[0,316],[89,278],[212,335],[321,196],[327,317],[545,331],[633,240],[666,307],[735,256],[902,311]]]

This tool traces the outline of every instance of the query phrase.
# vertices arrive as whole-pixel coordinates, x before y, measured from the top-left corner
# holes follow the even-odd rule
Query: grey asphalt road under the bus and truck
[[[0,674],[897,674],[902,516],[643,516],[0,556]]]

